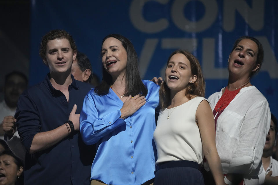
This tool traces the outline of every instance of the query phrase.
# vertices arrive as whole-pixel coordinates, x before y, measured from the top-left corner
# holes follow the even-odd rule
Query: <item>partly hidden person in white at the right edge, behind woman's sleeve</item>
[[[275,150],[277,150],[275,147],[276,136],[277,119],[273,114],[271,114],[270,129],[266,136],[263,156],[261,157],[263,171],[259,174],[260,184],[278,185],[278,161],[272,158],[272,154],[275,152]]]

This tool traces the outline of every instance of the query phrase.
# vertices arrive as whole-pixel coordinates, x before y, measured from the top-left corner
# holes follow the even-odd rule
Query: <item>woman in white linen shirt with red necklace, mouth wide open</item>
[[[261,172],[270,110],[266,98],[250,79],[261,68],[263,57],[264,50],[257,39],[237,39],[228,59],[228,85],[208,98],[226,184],[259,184],[257,175]]]

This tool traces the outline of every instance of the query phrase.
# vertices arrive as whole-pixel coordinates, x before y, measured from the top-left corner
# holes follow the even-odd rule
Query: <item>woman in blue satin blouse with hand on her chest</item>
[[[106,36],[101,56],[103,81],[88,92],[80,114],[83,141],[97,147],[91,185],[153,184],[159,86],[141,80],[138,57],[127,38]]]

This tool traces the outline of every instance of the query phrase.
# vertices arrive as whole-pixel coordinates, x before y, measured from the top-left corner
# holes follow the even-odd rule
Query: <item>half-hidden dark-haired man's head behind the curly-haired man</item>
[[[81,82],[91,83],[92,65],[89,58],[79,51],[76,53],[76,59],[72,63],[72,75],[74,79]]]

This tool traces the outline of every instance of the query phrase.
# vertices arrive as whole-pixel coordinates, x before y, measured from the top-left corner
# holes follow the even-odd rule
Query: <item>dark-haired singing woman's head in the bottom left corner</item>
[[[0,154],[0,185],[23,185],[23,162],[11,151]]]

